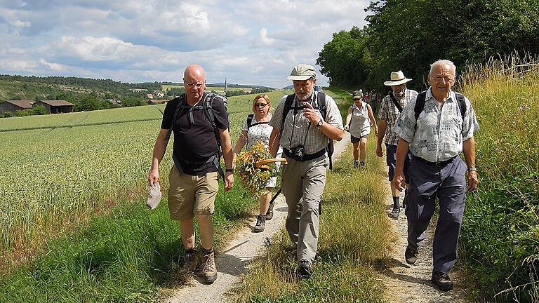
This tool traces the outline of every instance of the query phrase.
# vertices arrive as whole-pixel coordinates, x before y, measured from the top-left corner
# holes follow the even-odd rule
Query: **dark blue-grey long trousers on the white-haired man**
[[[457,260],[466,198],[466,170],[460,156],[441,168],[413,157],[408,170],[411,180],[406,189],[408,245],[417,248],[424,240],[438,198],[440,216],[432,243],[432,260],[434,271],[445,274],[449,274]]]

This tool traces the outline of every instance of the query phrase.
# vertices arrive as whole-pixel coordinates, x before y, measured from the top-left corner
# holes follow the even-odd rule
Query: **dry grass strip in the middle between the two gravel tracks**
[[[350,95],[335,99],[342,109],[350,105]],[[351,147],[328,170],[314,277],[297,281],[292,243],[282,231],[234,290],[239,302],[384,302],[375,267],[387,259],[391,236],[380,186],[385,163],[374,152],[369,140],[366,170],[352,168]]]

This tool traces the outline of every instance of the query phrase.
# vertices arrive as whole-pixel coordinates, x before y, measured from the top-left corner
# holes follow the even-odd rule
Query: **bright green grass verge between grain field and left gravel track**
[[[49,243],[35,262],[1,281],[0,302],[153,302],[161,288],[185,283],[178,275],[180,228],[168,219],[166,201],[154,211],[137,202]],[[219,249],[256,203],[234,187],[226,195],[221,189],[215,204]]]

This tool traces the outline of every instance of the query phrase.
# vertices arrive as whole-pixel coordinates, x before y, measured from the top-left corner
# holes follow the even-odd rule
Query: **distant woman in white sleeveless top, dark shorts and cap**
[[[345,130],[350,132],[350,142],[354,147],[354,168],[364,168],[371,123],[373,123],[375,135],[378,135],[378,126],[376,126],[371,105],[364,101],[364,95],[356,90],[352,93],[352,99],[354,104],[348,109]]]

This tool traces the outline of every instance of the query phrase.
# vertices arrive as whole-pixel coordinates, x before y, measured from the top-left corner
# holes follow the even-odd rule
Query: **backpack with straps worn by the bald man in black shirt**
[[[208,161],[206,161],[206,163],[212,162],[213,166],[215,166],[215,168],[217,169],[217,171],[219,172],[219,174],[221,175],[221,177],[224,180],[225,173],[223,173],[222,168],[221,168],[221,164],[220,164],[220,159],[221,159],[221,155],[222,155],[221,136],[219,134],[219,128],[215,124],[215,114],[213,114],[213,108],[212,108],[213,100],[215,100],[215,98],[217,98],[217,97],[219,97],[222,100],[223,104],[225,105],[225,109],[227,109],[227,111],[228,111],[227,97],[220,96],[220,95],[217,95],[215,93],[204,93],[204,95],[202,96],[201,102],[199,102],[194,107],[187,105],[187,95],[185,95],[185,93],[183,95],[180,95],[180,97],[176,97],[173,100],[178,100],[178,105],[176,105],[176,109],[175,109],[175,112],[174,112],[174,116],[173,116],[173,120],[172,120],[173,122],[172,123],[173,123],[173,126],[174,126],[175,123],[178,123],[178,117],[180,116],[180,114],[182,114],[185,110],[188,110],[189,111],[189,116],[188,116],[189,123],[191,125],[194,125],[196,122],[194,121],[193,111],[194,110],[204,110],[204,114],[206,114],[206,118],[208,118],[208,121],[210,121],[211,126],[213,127],[213,132],[215,134],[215,140],[217,140],[217,145],[218,145],[217,153],[215,155],[211,156],[210,159],[208,159]],[[171,100],[169,102],[172,102],[173,100]],[[228,112],[227,112],[227,115],[228,115]],[[171,134],[172,134],[172,127],[168,129],[168,133],[166,134],[166,140],[167,141],[168,141],[168,139],[170,139]],[[180,165],[180,160],[178,159],[178,156],[175,154],[175,152],[172,153],[172,159],[174,161],[174,165],[176,166],[176,168],[178,169],[178,171],[181,174],[182,171],[183,171],[182,166]]]

